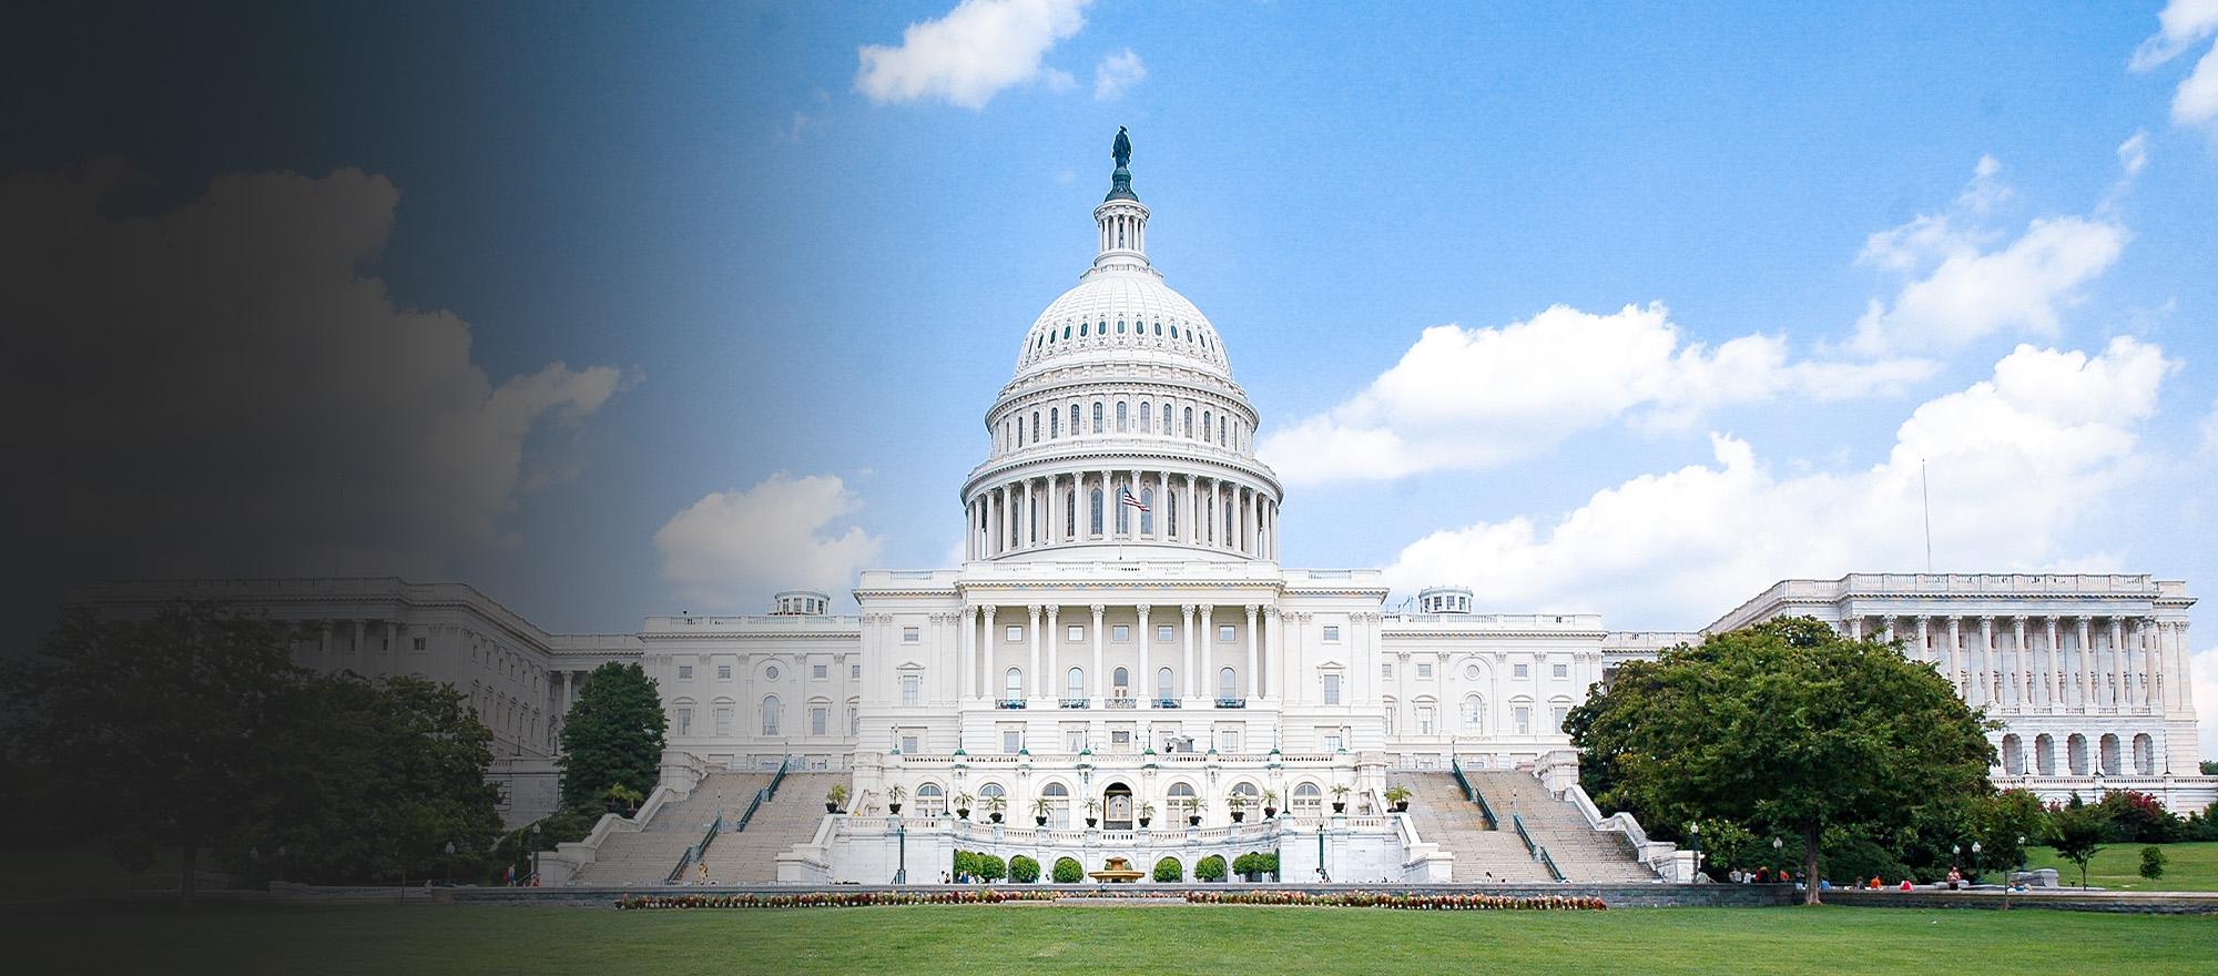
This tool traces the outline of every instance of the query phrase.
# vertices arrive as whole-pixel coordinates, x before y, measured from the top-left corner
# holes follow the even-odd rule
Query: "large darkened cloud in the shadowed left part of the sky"
[[[0,180],[0,397],[35,459],[0,504],[73,570],[441,572],[508,541],[623,386],[561,362],[495,382],[461,317],[395,308],[368,271],[399,202],[381,175],[222,175],[111,217],[133,182]]]

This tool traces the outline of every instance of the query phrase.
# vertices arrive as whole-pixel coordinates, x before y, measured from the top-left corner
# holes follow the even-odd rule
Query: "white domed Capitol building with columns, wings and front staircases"
[[[2218,801],[2178,581],[1856,572],[1646,632],[1482,614],[1457,586],[1388,603],[1377,570],[1280,566],[1286,492],[1255,457],[1238,335],[1151,264],[1122,153],[1093,222],[1078,284],[1009,333],[1014,375],[947,515],[963,566],[867,570],[854,617],[794,590],[761,614],[550,634],[470,586],[399,579],[115,581],[82,601],[220,597],[288,621],[311,668],[450,681],[497,734],[510,821],[552,810],[586,674],[641,663],[670,721],[663,783],[550,856],[548,883],[663,878],[743,807],[750,843],[696,865],[719,881],[936,881],[954,850],[1189,876],[1275,850],[1286,881],[1686,881],[1690,852],[1579,790],[1564,716],[1626,661],[1785,614],[1930,661],[2001,721],[2001,787]]]

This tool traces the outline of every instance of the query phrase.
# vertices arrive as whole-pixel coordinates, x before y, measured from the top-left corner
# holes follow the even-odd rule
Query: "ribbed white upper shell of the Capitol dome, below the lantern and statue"
[[[1047,304],[1025,333],[1016,373],[1131,353],[1169,353],[1231,379],[1224,344],[1193,302],[1151,268],[1089,271],[1076,288]]]

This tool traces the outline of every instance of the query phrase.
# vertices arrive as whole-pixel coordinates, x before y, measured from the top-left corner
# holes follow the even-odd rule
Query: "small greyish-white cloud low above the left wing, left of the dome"
[[[703,495],[654,532],[654,548],[663,577],[705,606],[745,610],[785,588],[841,592],[885,541],[832,526],[861,508],[834,475],[779,472],[743,492]]]

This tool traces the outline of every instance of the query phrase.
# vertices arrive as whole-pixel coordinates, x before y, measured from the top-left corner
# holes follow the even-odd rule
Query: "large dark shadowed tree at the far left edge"
[[[217,603],[146,619],[64,612],[40,650],[0,661],[0,716],[40,756],[71,816],[111,850],[177,847],[193,903],[200,854],[255,823],[277,794],[284,723],[306,672],[284,630]]]

